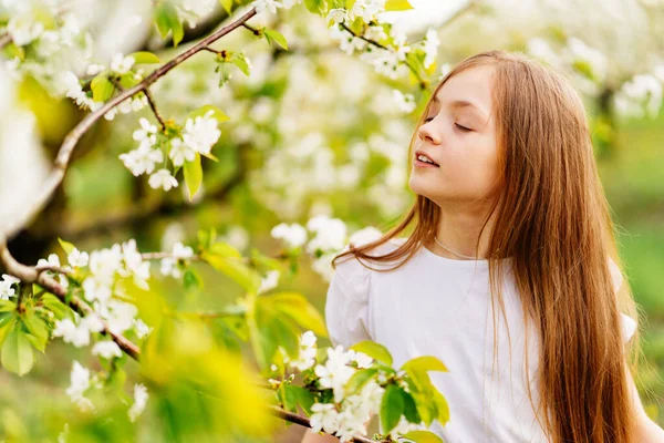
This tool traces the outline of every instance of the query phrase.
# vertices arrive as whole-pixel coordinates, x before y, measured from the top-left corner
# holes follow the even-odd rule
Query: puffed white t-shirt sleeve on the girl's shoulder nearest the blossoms
[[[343,258],[330,280],[325,322],[333,346],[349,348],[369,334],[370,270],[355,258]]]

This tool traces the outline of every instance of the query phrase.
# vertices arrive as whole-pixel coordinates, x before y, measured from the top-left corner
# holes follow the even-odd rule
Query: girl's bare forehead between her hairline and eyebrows
[[[449,78],[433,97],[433,104],[479,111],[486,116],[494,107],[491,95],[494,66],[475,66]]]

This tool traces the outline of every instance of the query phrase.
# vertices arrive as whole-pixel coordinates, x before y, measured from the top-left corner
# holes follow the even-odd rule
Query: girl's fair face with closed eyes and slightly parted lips
[[[438,90],[413,148],[408,185],[414,193],[443,206],[490,199],[497,190],[492,73],[494,66],[475,66]]]

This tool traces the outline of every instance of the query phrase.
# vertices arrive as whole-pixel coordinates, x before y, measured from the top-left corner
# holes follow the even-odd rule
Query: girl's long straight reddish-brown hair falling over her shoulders
[[[636,332],[626,352],[620,312],[636,318],[623,279],[614,291],[609,258],[616,253],[609,205],[600,183],[583,102],[564,74],[519,53],[488,51],[458,63],[436,86],[411,140],[424,123],[432,99],[447,80],[474,66],[495,68],[495,103],[500,190],[486,215],[495,215],[489,240],[492,300],[504,311],[502,267],[512,271],[523,319],[538,332],[538,420],[556,443],[634,441],[626,357],[635,367]],[[402,220],[380,239],[338,255],[362,260],[407,261],[429,244],[439,207],[417,195]],[[414,225],[414,226],[413,226]],[[405,241],[382,256],[371,250],[397,236]],[[479,249],[479,241],[476,250]],[[377,269],[382,271],[391,269]],[[532,402],[532,395],[530,395]],[[536,406],[533,404],[533,406]]]

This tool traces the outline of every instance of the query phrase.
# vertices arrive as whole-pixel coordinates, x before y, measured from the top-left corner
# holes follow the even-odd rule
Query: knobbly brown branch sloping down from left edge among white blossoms
[[[22,265],[18,262],[7,248],[7,240],[0,234],[0,261],[4,266],[7,274],[10,274],[21,280],[22,284],[38,284],[42,288],[46,289],[49,292],[53,293],[55,297],[60,299],[64,305],[68,305],[74,311],[79,312],[81,316],[90,316],[95,315],[96,312],[84,301],[82,301],[79,297],[68,297],[66,289],[55,281],[52,277],[48,276],[43,271],[39,271],[38,269]],[[133,358],[134,360],[138,360],[138,356],[141,356],[141,350],[136,344],[127,340],[124,336],[111,332],[108,329],[108,324],[103,319],[100,319],[103,324],[102,333],[110,336],[115,343],[122,349],[127,356]]]

